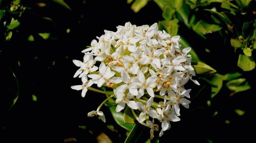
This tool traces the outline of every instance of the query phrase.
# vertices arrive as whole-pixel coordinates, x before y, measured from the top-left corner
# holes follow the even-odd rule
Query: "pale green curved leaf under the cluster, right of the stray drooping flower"
[[[111,114],[116,121],[116,123],[121,126],[122,128],[131,131],[133,128],[133,124],[126,124],[124,123],[123,119],[123,113],[122,112],[116,112],[116,106],[110,107]]]

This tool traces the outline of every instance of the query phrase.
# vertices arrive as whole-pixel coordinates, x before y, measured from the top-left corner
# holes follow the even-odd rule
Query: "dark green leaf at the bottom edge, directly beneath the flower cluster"
[[[148,139],[150,132],[145,132],[146,127],[140,124],[135,124],[124,143],[138,143],[138,142],[146,142]]]

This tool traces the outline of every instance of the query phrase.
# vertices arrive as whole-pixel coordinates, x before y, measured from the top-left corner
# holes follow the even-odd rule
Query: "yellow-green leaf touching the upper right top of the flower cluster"
[[[165,30],[170,36],[176,36],[178,33],[178,22],[178,19],[163,20],[159,21],[158,26],[160,30]]]

